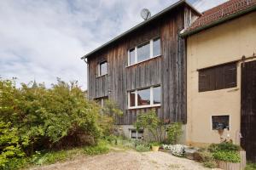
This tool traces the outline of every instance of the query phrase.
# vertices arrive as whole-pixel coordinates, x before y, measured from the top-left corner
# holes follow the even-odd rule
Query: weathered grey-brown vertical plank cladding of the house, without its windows
[[[162,14],[157,20],[110,43],[87,57],[90,99],[108,96],[124,111],[118,124],[130,125],[141,111],[152,108],[128,109],[128,92],[155,85],[161,87],[161,105],[154,107],[166,122],[186,123],[186,57],[185,42],[179,32],[197,13],[186,3]],[[136,65],[127,66],[128,50],[160,37],[161,55]],[[108,61],[108,75],[97,77],[97,65]]]

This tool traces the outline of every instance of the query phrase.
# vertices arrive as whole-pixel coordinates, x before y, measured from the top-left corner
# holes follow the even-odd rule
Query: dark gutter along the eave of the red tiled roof
[[[232,20],[232,19],[235,19],[235,18],[237,18],[237,17],[239,17],[243,14],[250,13],[250,12],[254,11],[255,9],[256,9],[256,5],[253,5],[252,7],[241,10],[241,11],[235,13],[235,14],[230,14],[230,15],[228,15],[228,16],[220,19],[220,20],[213,21],[212,23],[210,23],[206,26],[198,27],[198,28],[196,28],[195,30],[192,30],[192,31],[185,31],[184,33],[180,32],[179,35],[180,35],[180,37],[191,36],[193,34],[196,34],[196,33],[200,32],[200,31],[207,30],[208,28],[211,28],[213,26],[218,26],[219,24],[222,24],[227,20]]]

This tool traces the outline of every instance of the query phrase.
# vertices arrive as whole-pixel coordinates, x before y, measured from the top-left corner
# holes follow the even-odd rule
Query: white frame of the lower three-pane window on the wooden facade
[[[148,88],[142,88],[142,89],[137,89],[137,90],[131,90],[128,92],[128,109],[140,109],[140,108],[148,108],[148,107],[158,107],[160,106],[161,104],[154,104],[154,91],[153,89],[154,88],[158,88],[160,86],[153,86],[153,87],[150,87],[150,105],[137,105],[137,91],[139,90],[143,90],[143,89],[148,89]],[[130,105],[130,94],[131,92],[134,92],[135,93],[135,106],[131,106]]]

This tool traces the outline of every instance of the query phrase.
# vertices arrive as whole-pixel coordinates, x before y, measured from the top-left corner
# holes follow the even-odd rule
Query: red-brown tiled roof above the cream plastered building
[[[256,9],[256,0],[230,0],[201,14],[181,35],[188,36]]]

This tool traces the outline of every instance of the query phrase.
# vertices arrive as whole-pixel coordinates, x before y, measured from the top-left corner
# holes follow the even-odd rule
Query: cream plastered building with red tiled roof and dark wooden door
[[[209,9],[182,37],[187,144],[232,139],[256,162],[256,1],[230,0]]]

